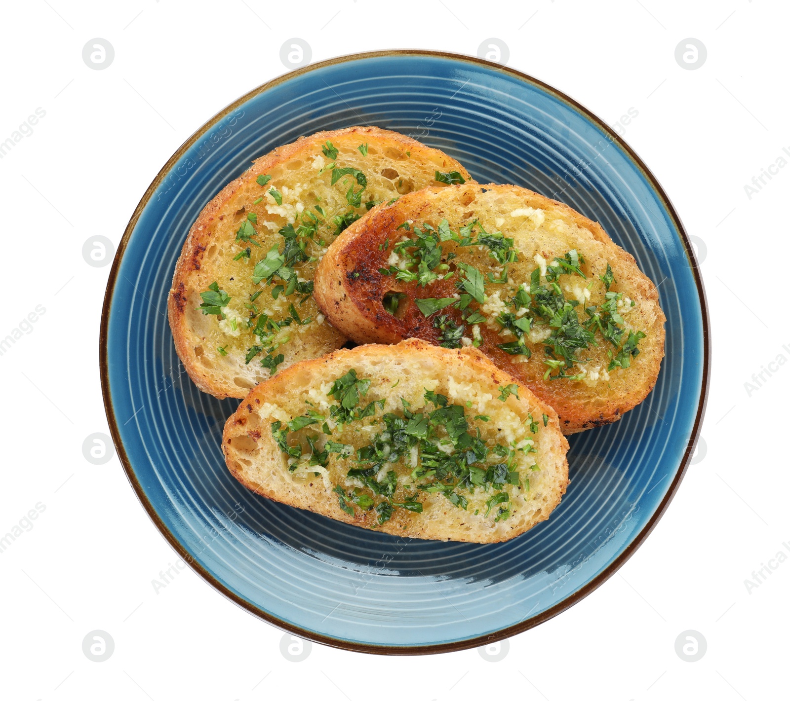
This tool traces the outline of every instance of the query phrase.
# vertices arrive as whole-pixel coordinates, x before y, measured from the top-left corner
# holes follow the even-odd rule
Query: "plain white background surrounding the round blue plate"
[[[770,559],[790,555],[790,366],[773,365],[751,392],[744,383],[790,358],[774,311],[787,296],[790,168],[751,197],[744,186],[790,149],[788,20],[786,3],[766,0],[4,3],[0,141],[37,107],[46,115],[0,159],[0,338],[36,305],[46,312],[0,356],[0,534],[35,504],[45,510],[0,553],[0,695],[786,698],[790,562]],[[706,452],[620,572],[510,639],[499,662],[478,650],[384,658],[318,645],[292,662],[282,632],[190,569],[155,591],[175,553],[117,457],[100,466],[83,457],[85,437],[108,433],[98,347],[110,270],[86,264],[83,243],[100,234],[117,245],[169,156],[227,103],[284,73],[280,47],[294,36],[314,61],[400,47],[476,54],[483,39],[502,39],[510,66],[609,124],[638,112],[618,129],[704,244],[714,329]],[[107,69],[83,62],[94,37],[115,49]],[[694,70],[675,61],[689,37],[707,48]],[[82,651],[96,629],[115,641],[106,662]],[[698,662],[675,652],[690,629],[707,641]]]

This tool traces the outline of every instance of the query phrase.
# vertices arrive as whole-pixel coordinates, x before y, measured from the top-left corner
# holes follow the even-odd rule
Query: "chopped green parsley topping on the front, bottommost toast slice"
[[[290,470],[302,465],[309,473],[310,467],[326,467],[331,455],[337,455],[337,467],[344,468],[346,478],[352,482],[352,486],[347,483],[333,487],[339,507],[348,515],[356,509],[373,511],[375,526],[392,519],[397,509],[421,513],[420,493],[442,494],[450,504],[466,510],[477,489],[490,495],[484,497],[486,515],[494,512],[495,521],[509,517],[507,507],[499,507],[498,511],[495,508],[510,504],[509,489],[529,489],[529,480],[519,472],[517,455],[534,452],[532,439],[522,440],[518,448],[515,441],[492,445],[493,439],[483,440],[480,430],[470,429],[464,406],[452,404],[445,395],[430,390],[425,391],[426,405],[421,411],[412,411],[410,403],[401,398],[402,411],[378,415],[369,424],[378,425],[378,433],[357,450],[326,437],[332,433],[328,423],[361,421],[383,409],[384,400],[361,408],[360,402],[370,388],[371,380],[358,377],[355,369],[350,369],[327,392],[337,402],[330,408],[329,418],[309,409],[289,422],[272,424],[273,437],[288,457]],[[344,429],[343,435],[349,430]],[[490,455],[497,458],[492,461]],[[399,482],[398,465],[401,470],[412,470],[402,480],[408,484]]]

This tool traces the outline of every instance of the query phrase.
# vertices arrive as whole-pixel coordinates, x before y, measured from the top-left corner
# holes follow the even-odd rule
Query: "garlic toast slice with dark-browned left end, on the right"
[[[426,188],[377,208],[329,246],[314,295],[359,343],[480,347],[566,434],[645,399],[664,357],[664,313],[634,257],[516,186]]]

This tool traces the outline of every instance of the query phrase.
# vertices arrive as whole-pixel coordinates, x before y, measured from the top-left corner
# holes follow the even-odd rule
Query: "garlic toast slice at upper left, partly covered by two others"
[[[342,346],[311,297],[326,246],[371,203],[436,177],[469,174],[372,126],[316,133],[255,160],[205,206],[175,267],[168,317],[194,383],[241,399],[273,371]]]

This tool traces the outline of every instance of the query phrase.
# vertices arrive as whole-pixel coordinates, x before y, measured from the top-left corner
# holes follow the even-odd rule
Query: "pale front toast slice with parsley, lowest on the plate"
[[[499,542],[568,484],[554,410],[474,348],[336,350],[254,388],[222,437],[269,499],[411,538]]]

